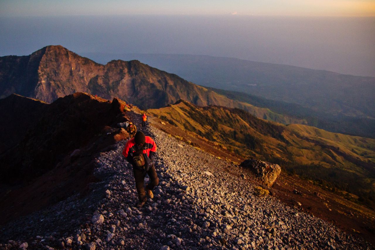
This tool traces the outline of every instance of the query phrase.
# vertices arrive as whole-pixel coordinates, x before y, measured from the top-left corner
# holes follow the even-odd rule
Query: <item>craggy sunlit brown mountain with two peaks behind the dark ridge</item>
[[[117,97],[143,109],[165,107],[184,99],[202,106],[242,108],[284,124],[306,122],[231,100],[137,60],[113,60],[101,65],[62,46],[48,46],[29,56],[0,57],[0,98],[17,93],[52,102],[75,92]]]

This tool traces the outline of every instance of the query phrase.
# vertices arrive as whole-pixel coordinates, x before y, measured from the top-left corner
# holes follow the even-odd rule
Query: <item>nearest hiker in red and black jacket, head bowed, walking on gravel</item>
[[[159,184],[153,158],[155,157],[156,144],[149,136],[145,136],[142,131],[138,131],[135,137],[128,140],[122,154],[126,160],[133,165],[133,173],[135,178],[135,187],[137,189],[139,202],[138,208],[141,208],[146,203],[146,194],[152,199],[154,194],[152,190]],[[150,177],[150,182],[144,189],[144,178],[147,175]]]

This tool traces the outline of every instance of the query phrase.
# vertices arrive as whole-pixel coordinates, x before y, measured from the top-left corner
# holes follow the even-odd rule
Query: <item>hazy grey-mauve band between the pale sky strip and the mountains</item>
[[[0,17],[0,36],[0,56],[60,44],[78,54],[234,57],[375,77],[375,17]]]

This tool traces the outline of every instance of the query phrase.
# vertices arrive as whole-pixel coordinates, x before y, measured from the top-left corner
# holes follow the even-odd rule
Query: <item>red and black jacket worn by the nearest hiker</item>
[[[145,143],[142,146],[136,145],[134,138],[128,140],[122,154],[129,163],[133,164],[133,153],[139,151],[141,148],[143,148],[145,165],[148,166],[152,162],[156,152],[156,144],[149,136],[145,136]]]

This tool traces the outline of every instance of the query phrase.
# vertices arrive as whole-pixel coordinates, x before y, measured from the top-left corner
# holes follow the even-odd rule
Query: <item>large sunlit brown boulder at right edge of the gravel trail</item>
[[[249,168],[267,187],[271,187],[281,173],[281,168],[278,164],[255,159],[245,160],[240,166]]]

